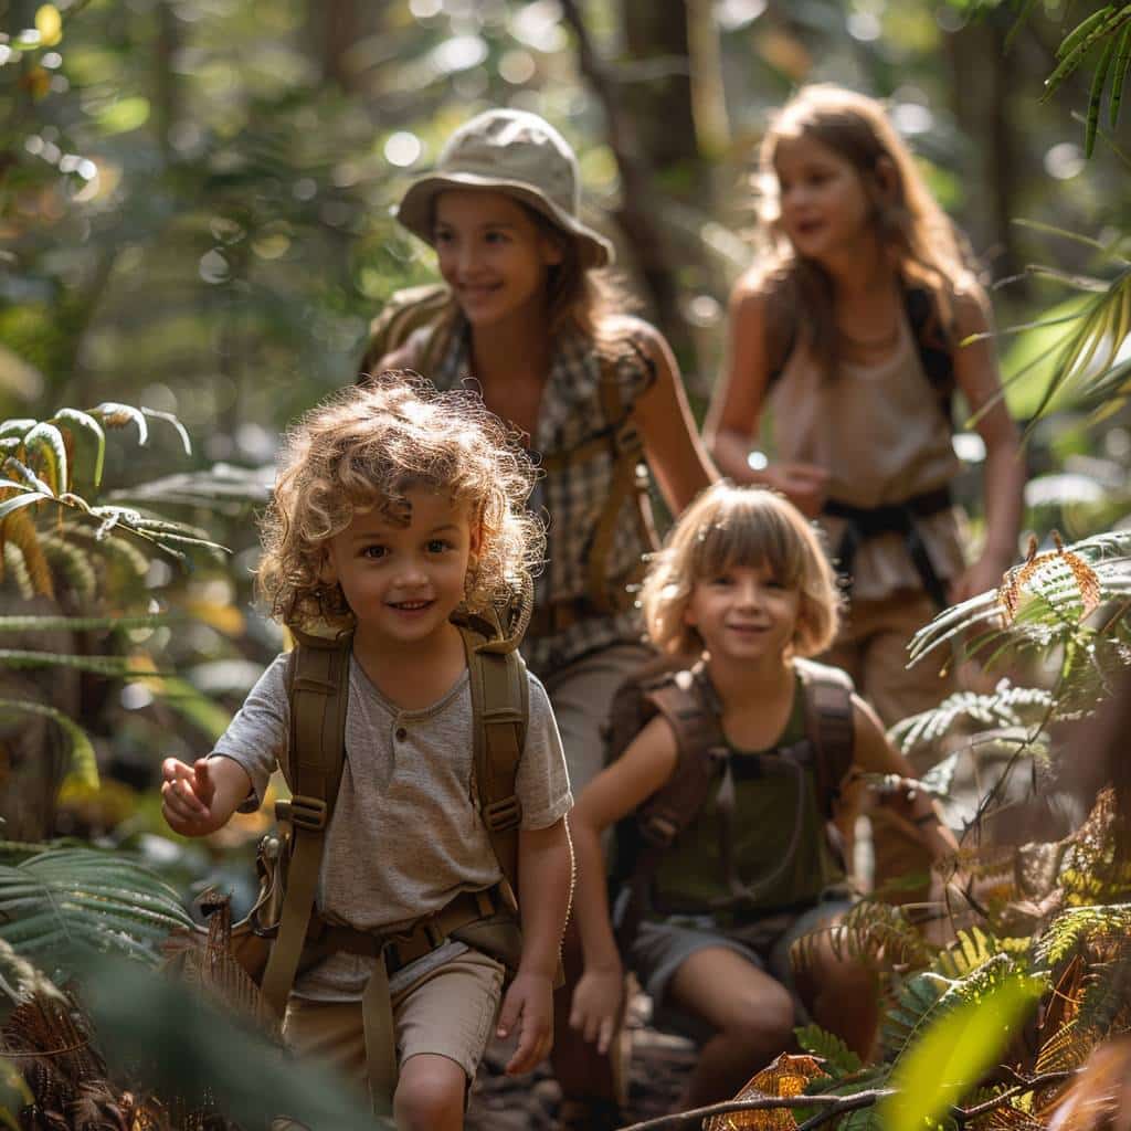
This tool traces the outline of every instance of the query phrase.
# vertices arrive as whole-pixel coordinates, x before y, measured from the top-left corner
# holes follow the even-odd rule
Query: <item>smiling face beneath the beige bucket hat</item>
[[[440,274],[473,327],[545,317],[547,271],[562,249],[517,200],[494,189],[437,198]]]

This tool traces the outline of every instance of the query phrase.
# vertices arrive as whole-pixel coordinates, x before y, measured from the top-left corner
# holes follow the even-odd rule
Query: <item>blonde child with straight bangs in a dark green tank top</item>
[[[846,758],[845,780],[834,785],[858,772],[905,777],[910,768],[843,673],[803,658],[828,646],[839,599],[817,533],[783,497],[729,484],[705,491],[651,563],[642,605],[651,642],[679,667],[666,687],[683,697],[679,709],[653,714],[570,817],[585,950],[570,1024],[598,1047],[610,1044],[628,964],[657,1016],[702,1042],[680,1104],[688,1108],[734,1095],[791,1047],[805,1011],[862,1056],[872,1046],[874,976],[830,943],[849,904],[827,839],[811,689],[839,687],[851,726],[851,765]],[[701,722],[681,733],[684,708]],[[689,735],[708,723],[710,743],[693,748]],[[658,856],[640,851],[632,838],[646,826],[637,820],[671,783],[692,779],[692,759],[705,767],[701,804],[680,818]],[[907,808],[936,857],[956,849],[926,795]],[[613,892],[615,935],[601,847],[613,827],[614,877],[623,883]],[[633,845],[637,862],[622,861]],[[649,854],[641,886],[639,861]],[[625,897],[637,903],[627,906]],[[795,975],[789,947],[818,929],[811,960]]]

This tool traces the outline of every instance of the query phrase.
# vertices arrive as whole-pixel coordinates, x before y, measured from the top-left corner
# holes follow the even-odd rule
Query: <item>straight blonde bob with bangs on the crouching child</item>
[[[820,535],[777,492],[729,483],[716,483],[688,507],[648,568],[640,604],[651,641],[668,655],[698,656],[702,639],[684,619],[696,585],[763,566],[801,595],[794,655],[824,651],[839,625],[840,593]]]

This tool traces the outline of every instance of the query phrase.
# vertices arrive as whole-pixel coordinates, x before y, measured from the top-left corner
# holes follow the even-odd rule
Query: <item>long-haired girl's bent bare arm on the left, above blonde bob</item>
[[[748,463],[768,389],[766,299],[753,282],[740,279],[731,292],[726,363],[707,414],[703,438],[724,475],[735,483],[759,483],[780,491],[812,518],[824,502],[824,468],[782,463],[756,470]]]

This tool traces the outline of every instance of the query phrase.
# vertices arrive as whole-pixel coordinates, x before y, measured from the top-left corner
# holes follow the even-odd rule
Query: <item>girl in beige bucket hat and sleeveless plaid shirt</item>
[[[579,180],[573,150],[535,114],[491,110],[458,129],[396,214],[435,249],[447,286],[378,319],[361,378],[408,368],[441,389],[474,378],[539,456],[532,504],[549,516],[549,561],[523,650],[550,693],[575,792],[602,766],[613,692],[650,658],[634,608],[656,546],[647,472],[673,513],[717,475],[667,343],[598,270],[613,248],[579,218]],[[403,329],[390,334],[394,322]],[[607,1091],[568,1016],[560,993],[563,1093]],[[582,1117],[599,1125],[592,1107]]]

